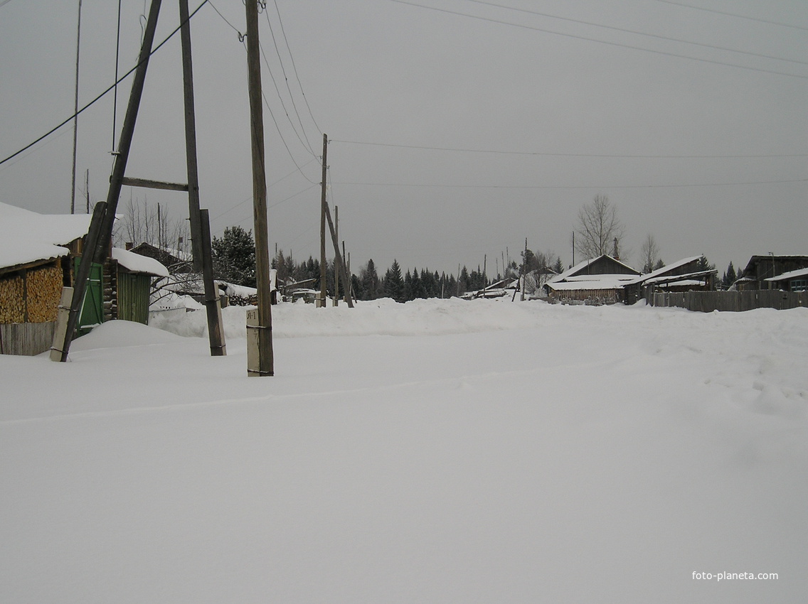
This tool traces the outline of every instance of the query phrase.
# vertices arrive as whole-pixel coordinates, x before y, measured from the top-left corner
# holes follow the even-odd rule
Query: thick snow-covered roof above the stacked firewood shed
[[[84,237],[89,214],[37,214],[0,203],[0,267],[66,256],[64,247]]]

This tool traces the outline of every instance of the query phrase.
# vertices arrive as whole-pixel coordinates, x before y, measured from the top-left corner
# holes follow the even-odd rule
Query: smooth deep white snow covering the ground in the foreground
[[[0,601],[808,594],[806,309],[281,304],[265,378],[224,316],[0,357]]]

